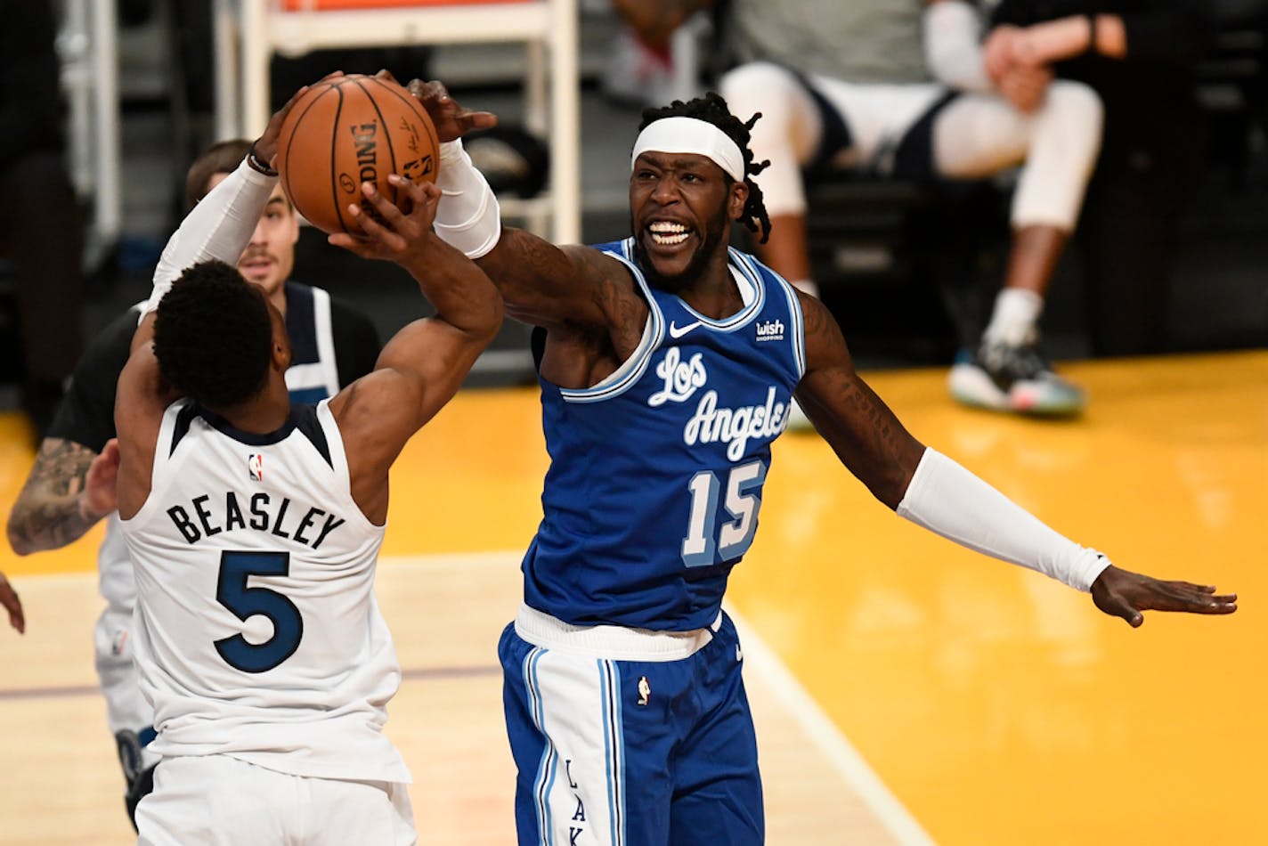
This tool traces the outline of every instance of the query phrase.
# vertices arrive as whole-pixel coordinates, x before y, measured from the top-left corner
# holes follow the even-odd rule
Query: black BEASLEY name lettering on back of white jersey
[[[209,493],[203,493],[190,500],[188,506],[171,506],[167,516],[191,544],[222,531],[254,529],[317,549],[331,531],[344,525],[339,515],[313,506],[306,510],[304,505],[293,504],[290,497],[279,500],[264,492],[238,496],[226,491],[214,502]]]

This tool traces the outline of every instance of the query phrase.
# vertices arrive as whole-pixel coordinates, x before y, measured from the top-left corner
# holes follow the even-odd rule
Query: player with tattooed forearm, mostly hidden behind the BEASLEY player
[[[210,146],[189,167],[185,193],[194,208],[246,157],[250,142]],[[374,368],[379,339],[363,313],[320,288],[293,282],[299,218],[280,186],[273,189],[237,266],[287,320],[292,363],[287,386],[295,402],[317,402]],[[126,780],[129,818],[153,785],[158,756],[153,712],[141,695],[132,662],[132,608],[136,581],[114,514],[114,394],[128,360],[141,304],[112,321],[89,345],[75,368],[70,389],[39,446],[27,483],[9,516],[9,542],[18,554],[57,549],[77,540],[107,517],[98,552],[99,586],[107,608],[94,632],[96,671],[107,701]],[[0,600],[4,592],[0,590]]]

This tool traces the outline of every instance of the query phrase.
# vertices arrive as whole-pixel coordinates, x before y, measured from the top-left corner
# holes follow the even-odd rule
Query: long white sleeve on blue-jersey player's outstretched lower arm
[[[933,449],[898,504],[898,514],[962,547],[1092,589],[1110,559],[1058,534],[980,478]]]

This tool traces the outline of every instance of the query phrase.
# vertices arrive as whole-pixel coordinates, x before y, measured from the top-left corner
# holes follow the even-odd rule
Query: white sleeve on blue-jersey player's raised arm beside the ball
[[[436,186],[441,198],[432,227],[441,241],[462,250],[468,259],[479,259],[497,246],[502,237],[502,209],[460,140],[440,145]]]

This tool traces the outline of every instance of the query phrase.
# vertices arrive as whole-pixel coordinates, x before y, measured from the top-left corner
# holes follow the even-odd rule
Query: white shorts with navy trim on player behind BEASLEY
[[[132,611],[107,608],[93,630],[96,676],[105,695],[107,723],[114,734],[123,767],[123,804],[136,827],[137,803],[153,789],[158,756],[150,751],[155,738],[153,709],[141,694],[132,660]]]

